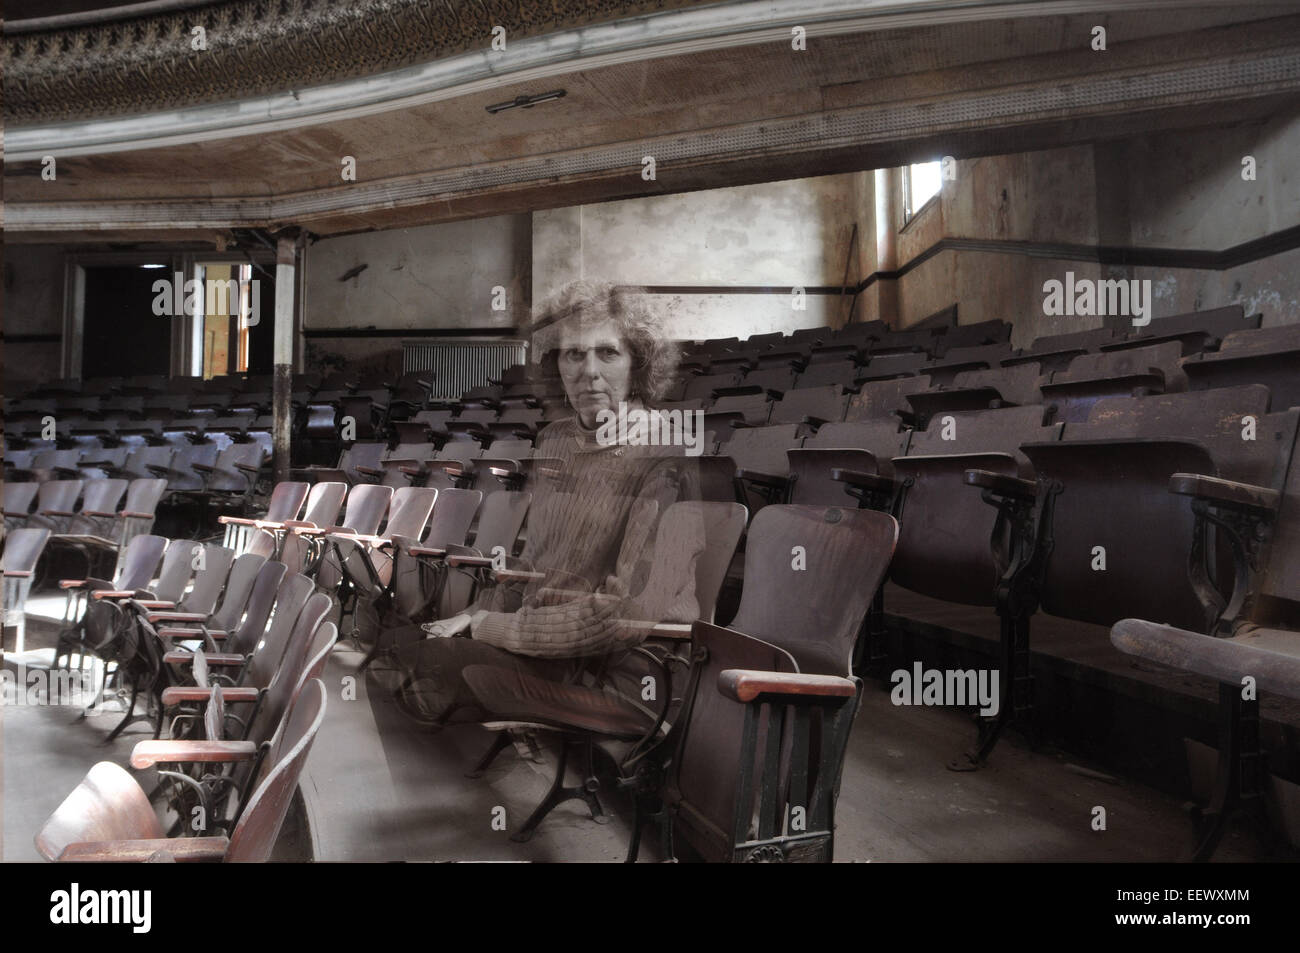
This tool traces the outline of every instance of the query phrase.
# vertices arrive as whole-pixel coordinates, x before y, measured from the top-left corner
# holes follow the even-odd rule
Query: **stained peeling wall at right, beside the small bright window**
[[[1254,181],[1242,178],[1247,153],[1256,160]],[[1266,325],[1300,321],[1300,252],[1214,270],[1102,268],[1015,248],[949,248],[907,269],[945,238],[1222,251],[1300,224],[1297,153],[1300,111],[1232,129],[959,160],[940,200],[906,225],[902,170],[890,170],[898,267],[906,273],[872,285],[859,312],[866,320],[888,313],[880,302],[896,286],[900,326],[957,302],[962,324],[1011,321],[1015,346],[1123,322],[1044,315],[1044,282],[1072,272],[1075,278],[1150,280],[1156,316],[1240,303],[1262,311]],[[870,228],[875,231],[874,221]]]

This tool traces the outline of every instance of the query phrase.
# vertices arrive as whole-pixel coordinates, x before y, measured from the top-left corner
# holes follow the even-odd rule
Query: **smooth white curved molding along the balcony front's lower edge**
[[[226,4],[226,8],[244,8],[276,4],[285,9],[302,9],[325,20],[325,14],[339,7],[338,0],[256,0]],[[1175,10],[1202,4],[1204,0],[1145,0],[1144,8]],[[8,160],[31,161],[44,155],[77,156],[121,151],[139,151],[178,146],[195,142],[209,142],[240,135],[268,135],[289,129],[321,125],[341,120],[351,120],[395,109],[403,109],[434,103],[456,96],[473,95],[484,90],[499,88],[511,83],[549,82],[581,69],[595,69],[630,61],[656,57],[696,53],[706,49],[722,49],[746,44],[785,42],[790,25],[806,25],[809,35],[853,34],[868,30],[888,30],[920,25],[957,23],[980,20],[1005,20],[1026,16],[1071,16],[1080,13],[1105,14],[1114,10],[1115,0],[1004,0],[1002,3],[983,3],[980,0],[745,0],[740,3],[714,3],[694,5],[686,0],[646,0],[620,7],[632,18],[611,22],[585,23],[546,33],[538,36],[516,36],[510,43],[508,55],[489,51],[486,38],[490,22],[500,13],[498,7],[515,4],[489,3],[484,0],[420,0],[419,9],[424,17],[432,17],[430,10],[439,16],[454,7],[473,7],[478,16],[486,12],[481,23],[456,21],[462,23],[460,47],[464,52],[441,55],[429,51],[450,49],[450,40],[441,47],[428,42],[429,34],[402,26],[393,10],[406,10],[416,0],[358,0],[350,8],[356,10],[384,9],[382,17],[373,22],[335,14],[333,30],[328,36],[307,30],[303,18],[283,21],[270,35],[259,36],[256,23],[231,27],[226,35],[247,31],[251,38],[247,44],[233,43],[226,55],[240,64],[244,82],[238,75],[228,78],[218,70],[217,77],[209,75],[211,60],[203,57],[217,52],[212,44],[214,35],[209,31],[209,51],[191,56],[187,44],[181,53],[172,47],[162,57],[164,66],[155,66],[142,49],[129,61],[114,66],[110,77],[110,90],[124,92],[130,87],[127,98],[136,101],[135,112],[124,114],[94,114],[79,103],[83,118],[69,118],[75,112],[72,105],[58,107],[61,100],[73,95],[73,88],[82,74],[88,70],[68,70],[55,68],[55,46],[42,47],[39,56],[30,53],[31,62],[23,66],[22,57],[13,56],[16,46],[26,44],[27,49],[42,34],[23,34],[5,39],[6,61],[6,120],[9,124]],[[563,17],[552,14],[554,22],[571,16],[577,8],[586,10],[602,9],[615,16],[618,4],[614,0],[551,0],[543,4],[536,0],[523,7],[546,7],[551,10],[563,8]],[[689,5],[689,9],[668,9],[673,5]],[[654,16],[636,16],[637,10],[654,8]],[[277,8],[278,9],[278,8]],[[202,13],[203,10],[198,10]],[[304,14],[306,16],[306,14]],[[348,14],[351,17],[352,14]],[[415,16],[415,14],[412,14]],[[504,18],[504,17],[502,17]],[[533,13],[532,21],[543,29],[540,14]],[[240,21],[242,22],[242,21]],[[547,21],[551,22],[551,21]],[[265,25],[263,25],[265,26]],[[121,25],[118,25],[121,27]],[[168,36],[174,38],[176,29]],[[324,27],[322,27],[324,29]],[[393,34],[402,33],[400,42],[390,42]],[[482,30],[482,33],[474,33]],[[508,27],[507,27],[508,30]],[[352,33],[364,40],[350,52],[347,42],[355,39]],[[464,33],[468,31],[468,33]],[[152,49],[157,52],[156,34]],[[151,34],[153,35],[153,34]],[[438,34],[442,35],[442,34]],[[185,38],[187,43],[186,34]],[[472,38],[472,39],[468,39]],[[84,38],[78,40],[86,46]],[[170,43],[170,40],[169,40]],[[387,47],[385,47],[385,43]],[[410,48],[424,43],[425,52],[415,55]],[[58,40],[58,49],[66,46],[66,39]],[[363,52],[374,52],[390,57],[391,61],[408,56],[421,60],[400,69],[389,69],[372,75],[358,75],[351,79],[337,79],[344,68],[360,64]],[[270,62],[273,49],[285,48],[282,62]],[[407,51],[407,52],[403,52]],[[29,53],[25,53],[27,56]],[[369,62],[374,69],[382,56],[376,53]],[[53,56],[53,60],[49,57]],[[60,55],[61,56],[61,55]],[[429,59],[434,56],[436,59]],[[321,74],[332,73],[334,82],[325,85],[294,85],[299,77],[295,70],[300,60],[306,68]],[[40,60],[39,68],[35,60]],[[49,61],[47,61],[49,60]],[[268,65],[269,64],[269,65]],[[26,72],[23,72],[26,70]],[[261,70],[266,70],[263,73]],[[62,77],[69,73],[70,78]],[[238,81],[238,82],[237,82]],[[291,83],[290,81],[294,81]],[[181,83],[181,86],[177,86]],[[221,83],[220,90],[213,92]],[[234,86],[230,86],[234,83]],[[264,91],[230,99],[240,83],[250,88]],[[200,99],[178,105],[165,105],[179,99],[178,90],[185,95],[198,95]],[[242,88],[242,87],[240,87]],[[124,95],[126,95],[124,92]],[[112,95],[109,95],[112,99]],[[147,101],[146,101],[147,100]],[[92,101],[92,100],[88,100]],[[47,105],[48,104],[48,105]],[[55,121],[47,114],[68,113],[62,121]]]

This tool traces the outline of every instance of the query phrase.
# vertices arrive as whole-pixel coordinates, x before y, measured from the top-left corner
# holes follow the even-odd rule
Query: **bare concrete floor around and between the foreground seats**
[[[57,615],[57,605],[46,598],[32,607]],[[29,625],[29,662],[48,655],[43,645],[52,644],[52,631],[39,619]],[[534,764],[510,749],[482,779],[465,777],[490,733],[412,724],[382,690],[381,677],[355,677],[359,659],[346,644],[330,659],[326,719],[302,784],[316,859],[623,859],[629,803],[604,790],[608,823],[594,823],[581,802],[569,802],[530,842],[512,842],[510,831],[546,790],[550,755]],[[355,701],[343,699],[348,684]],[[0,707],[4,861],[39,859],[35,831],[90,766],[100,759],[125,764],[134,742],[148,736],[142,723],[105,748],[101,740],[117,715],[74,718],[70,709]],[[1175,800],[1123,779],[1108,781],[1097,776],[1104,770],[1063,753],[1030,751],[1014,735],[984,770],[948,771],[945,763],[972,731],[959,712],[897,707],[868,684],[845,763],[836,861],[1171,861],[1186,848],[1190,824]],[[1097,806],[1105,809],[1105,831],[1093,829]],[[504,831],[493,823],[500,809]],[[1216,859],[1258,857],[1254,841],[1234,832]],[[653,839],[642,859],[659,859]]]

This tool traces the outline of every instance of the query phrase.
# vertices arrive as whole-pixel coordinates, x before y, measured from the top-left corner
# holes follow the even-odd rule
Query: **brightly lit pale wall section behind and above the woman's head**
[[[863,277],[871,196],[871,173],[853,173],[537,212],[533,300],[577,278],[698,289],[647,296],[676,338],[838,324],[852,299],[807,294],[800,311],[789,290]]]

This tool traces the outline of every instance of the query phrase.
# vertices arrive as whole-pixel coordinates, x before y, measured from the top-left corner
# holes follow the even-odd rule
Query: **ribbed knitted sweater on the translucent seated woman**
[[[545,577],[521,598],[497,592],[481,599],[477,608],[488,615],[473,637],[523,655],[572,658],[638,642],[644,623],[693,621],[702,528],[680,529],[664,541],[670,551],[656,553],[668,506],[698,498],[698,476],[681,449],[601,446],[569,419],[538,434],[536,456],[560,462],[560,475],[536,494],[521,556]]]

